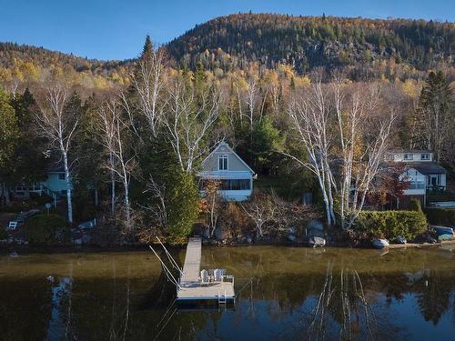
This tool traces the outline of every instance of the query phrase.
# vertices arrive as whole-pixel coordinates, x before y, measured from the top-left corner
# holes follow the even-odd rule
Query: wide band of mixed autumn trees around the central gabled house
[[[289,65],[217,74],[199,63],[191,71],[172,67],[147,37],[128,79],[90,91],[51,71],[30,90],[26,82],[2,90],[3,203],[16,185],[58,165],[72,184],[70,222],[102,212],[142,240],[162,234],[178,242],[197,222],[210,235],[225,225],[264,236],[310,215],[273,186],[248,203],[227,205],[210,184],[201,202],[197,172],[221,140],[259,179],[298,182],[299,194],[313,192],[329,225],[345,227],[369,197],[385,205],[396,195],[391,182],[375,182],[384,176],[389,147],[431,149],[441,163],[455,161],[453,94],[441,72],[427,82],[352,82],[342,69],[298,75]]]

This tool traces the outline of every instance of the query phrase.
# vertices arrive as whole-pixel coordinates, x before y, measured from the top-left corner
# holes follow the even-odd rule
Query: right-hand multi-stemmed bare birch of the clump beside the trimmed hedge
[[[341,226],[351,227],[379,176],[396,115],[393,109],[389,115],[377,115],[382,110],[378,84],[356,85],[348,96],[342,82],[336,81],[333,94],[341,149],[339,215]]]

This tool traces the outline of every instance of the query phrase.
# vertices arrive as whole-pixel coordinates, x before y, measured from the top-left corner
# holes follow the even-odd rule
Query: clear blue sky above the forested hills
[[[454,0],[0,0],[0,41],[98,59],[126,59],[238,12],[455,21]]]

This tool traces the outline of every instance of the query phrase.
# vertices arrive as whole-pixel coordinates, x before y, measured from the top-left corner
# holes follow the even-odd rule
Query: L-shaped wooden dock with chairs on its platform
[[[221,276],[220,280],[212,278],[204,282],[200,276],[201,256],[201,238],[189,238],[185,263],[177,287],[177,301],[217,301],[218,304],[234,301],[236,296],[234,277]]]

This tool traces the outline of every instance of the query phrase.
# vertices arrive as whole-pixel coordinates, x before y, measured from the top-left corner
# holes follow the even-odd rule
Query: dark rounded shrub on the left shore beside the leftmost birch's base
[[[63,216],[38,215],[25,221],[25,236],[31,244],[55,244],[69,239],[70,225]]]

